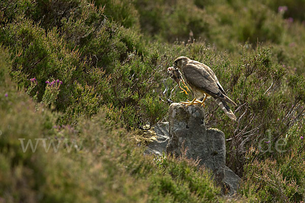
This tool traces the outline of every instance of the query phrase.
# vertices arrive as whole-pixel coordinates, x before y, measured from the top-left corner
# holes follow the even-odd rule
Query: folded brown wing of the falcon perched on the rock
[[[203,90],[212,97],[225,100],[236,106],[234,101],[227,97],[217,77],[207,65],[192,61],[183,67],[182,72],[187,82],[191,85]]]

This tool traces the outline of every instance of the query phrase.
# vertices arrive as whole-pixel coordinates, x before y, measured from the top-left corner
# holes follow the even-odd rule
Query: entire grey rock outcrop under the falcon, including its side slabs
[[[186,156],[200,160],[199,164],[209,168],[215,180],[229,195],[236,193],[240,178],[225,165],[225,135],[217,129],[206,129],[204,112],[198,105],[185,107],[173,103],[169,107],[169,122],[154,128],[157,140],[150,143],[145,153]]]

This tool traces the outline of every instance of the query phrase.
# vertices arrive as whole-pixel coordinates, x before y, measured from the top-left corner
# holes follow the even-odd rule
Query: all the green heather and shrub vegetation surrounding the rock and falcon
[[[184,55],[209,65],[237,104],[237,122],[212,100],[205,108],[207,126],[226,134],[228,166],[242,177],[236,201],[303,200],[304,6],[1,1],[0,197],[226,201],[203,168],[185,158],[143,156],[133,139],[141,140],[143,126],[166,120],[170,101],[192,99],[166,72]],[[19,138],[63,147],[23,153]],[[70,144],[80,148],[68,152]]]

